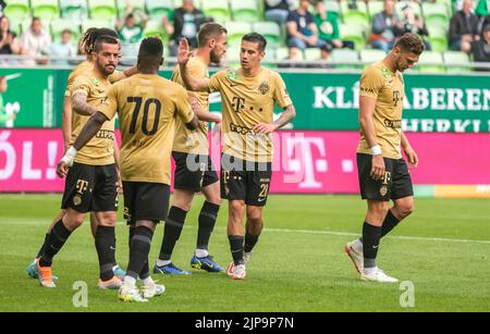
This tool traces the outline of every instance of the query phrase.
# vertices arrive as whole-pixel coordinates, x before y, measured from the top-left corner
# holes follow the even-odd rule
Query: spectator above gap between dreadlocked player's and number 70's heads
[[[136,22],[138,16],[139,22]],[[122,44],[139,44],[143,39],[143,29],[148,22],[148,17],[144,12],[135,12],[133,5],[127,1],[126,12],[123,15],[123,20],[119,21],[115,25],[119,39]]]

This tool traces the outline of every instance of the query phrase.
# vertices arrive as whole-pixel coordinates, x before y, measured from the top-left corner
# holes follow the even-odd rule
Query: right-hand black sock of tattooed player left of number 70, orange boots
[[[97,226],[95,246],[99,257],[100,280],[108,281],[114,276],[115,227]]]

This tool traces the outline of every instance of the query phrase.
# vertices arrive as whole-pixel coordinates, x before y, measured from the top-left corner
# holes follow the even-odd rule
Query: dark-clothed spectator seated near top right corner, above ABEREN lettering
[[[463,1],[463,9],[451,17],[450,49],[469,53],[471,42],[479,39],[478,17],[471,13],[471,0]]]

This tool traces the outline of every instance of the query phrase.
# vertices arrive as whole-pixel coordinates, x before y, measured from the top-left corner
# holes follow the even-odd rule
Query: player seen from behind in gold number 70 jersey
[[[148,252],[154,231],[167,219],[170,197],[170,156],[175,133],[175,117],[191,129],[197,117],[188,103],[187,91],[158,76],[163,62],[163,46],[158,38],[142,41],[139,74],[113,85],[106,100],[82,129],[74,145],[58,164],[64,173],[79,150],[118,112],[121,124],[121,178],[125,220],[135,224],[130,247],[126,276],[119,290],[122,301],[146,301],[163,293],[148,271]],[[143,273],[143,274],[142,274]],[[135,286],[139,275],[143,290]]]

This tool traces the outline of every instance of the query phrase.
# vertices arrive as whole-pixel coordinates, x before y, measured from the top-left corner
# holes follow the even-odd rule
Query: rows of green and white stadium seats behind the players
[[[457,66],[457,64],[471,63],[470,57],[461,52],[448,51],[450,20],[456,8],[461,8],[460,2],[452,0],[395,1],[395,12],[400,18],[404,15],[403,9],[409,5],[416,16],[424,18],[429,32],[426,40],[430,44],[432,52],[424,53],[419,65],[416,66],[419,72],[471,71],[470,66]],[[476,8],[478,1],[474,2]],[[9,0],[7,3],[3,13],[10,20],[12,32],[15,32],[17,36],[28,29],[30,18],[37,16],[50,32],[52,40],[59,41],[61,32],[65,28],[72,32],[74,40],[79,38],[82,32],[90,26],[114,28],[117,20],[126,13],[127,0]],[[299,0],[291,2],[290,10],[297,9],[298,3]],[[207,17],[225,25],[229,30],[229,53],[240,49],[237,46],[244,34],[258,32],[268,40],[266,61],[289,59],[285,25],[265,21],[264,0],[195,0],[194,4]],[[182,7],[182,0],[132,0],[131,5],[134,11],[143,11],[149,17],[143,35],[145,37],[160,36],[166,50],[169,50],[171,40],[169,33],[163,27],[162,20],[167,17],[168,22],[173,24],[174,9]],[[371,50],[368,41],[371,35],[372,17],[383,11],[382,0],[323,0],[323,8],[327,12],[338,15],[340,39],[354,42],[355,48],[354,52],[344,49],[333,50],[329,62],[358,60],[367,63],[382,58],[384,53]],[[311,13],[315,13],[316,10],[317,5],[310,7]],[[319,61],[321,55],[320,49],[308,48],[297,55],[297,60]],[[237,55],[230,57],[235,57],[232,61],[237,61]],[[433,61],[440,63],[438,65],[428,64]],[[449,65],[448,70],[444,70],[444,64]],[[333,67],[346,69],[347,66],[338,64]],[[360,65],[357,67],[360,69]]]

